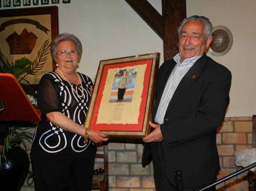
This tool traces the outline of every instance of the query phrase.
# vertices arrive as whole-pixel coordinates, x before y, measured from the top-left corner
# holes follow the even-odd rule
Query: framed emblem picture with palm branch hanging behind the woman
[[[23,57],[32,61],[33,73],[23,76],[30,84],[55,69],[50,43],[57,35],[57,6],[0,10],[0,56],[9,63]]]

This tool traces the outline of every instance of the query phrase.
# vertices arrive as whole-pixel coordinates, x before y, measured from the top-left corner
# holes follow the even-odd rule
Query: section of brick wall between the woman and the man
[[[109,143],[108,170],[110,191],[153,191],[152,163],[141,165],[142,144]],[[96,167],[100,164],[96,162]]]

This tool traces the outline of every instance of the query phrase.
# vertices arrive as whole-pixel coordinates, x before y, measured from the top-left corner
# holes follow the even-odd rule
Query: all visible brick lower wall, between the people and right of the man
[[[218,128],[217,146],[220,155],[221,171],[218,179],[240,169],[234,163],[234,151],[252,148],[252,117],[225,118]],[[110,191],[154,191],[152,163],[141,165],[143,146],[141,142],[110,142],[108,144],[108,168]],[[102,148],[99,148],[102,152]],[[96,160],[95,168],[103,167]],[[247,172],[221,183],[217,189],[228,191],[247,191]],[[22,191],[32,191],[33,186],[24,185]]]

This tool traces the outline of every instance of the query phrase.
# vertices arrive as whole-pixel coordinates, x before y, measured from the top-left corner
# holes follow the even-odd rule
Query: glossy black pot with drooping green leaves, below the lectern
[[[32,140],[32,133],[28,129],[29,127],[10,126],[4,139],[0,153],[0,179],[1,186],[8,188],[6,190],[20,190],[28,174],[30,160],[26,142],[30,143]]]

